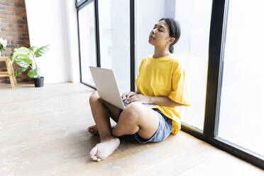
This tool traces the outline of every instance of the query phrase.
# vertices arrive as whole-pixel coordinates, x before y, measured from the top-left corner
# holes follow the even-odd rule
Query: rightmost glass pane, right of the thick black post
[[[219,137],[264,155],[264,2],[230,1]],[[246,13],[245,13],[246,11]]]

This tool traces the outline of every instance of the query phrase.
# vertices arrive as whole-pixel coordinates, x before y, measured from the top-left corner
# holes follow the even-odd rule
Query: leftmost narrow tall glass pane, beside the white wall
[[[94,1],[79,10],[79,44],[82,82],[94,85],[89,66],[97,66],[94,27]]]

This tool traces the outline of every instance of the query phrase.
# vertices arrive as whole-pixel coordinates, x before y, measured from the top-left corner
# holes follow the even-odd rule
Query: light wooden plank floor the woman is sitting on
[[[182,131],[161,143],[125,136],[109,158],[94,162],[89,151],[99,136],[87,132],[92,92],[79,83],[1,86],[0,175],[264,175]]]

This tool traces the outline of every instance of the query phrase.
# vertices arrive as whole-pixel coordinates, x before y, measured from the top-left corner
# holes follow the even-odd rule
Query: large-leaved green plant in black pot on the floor
[[[43,87],[44,77],[40,77],[40,68],[35,62],[35,57],[41,57],[48,52],[49,45],[43,47],[31,46],[30,48],[21,47],[16,48],[10,55],[10,62],[16,62],[17,65],[21,66],[14,72],[14,75],[19,75],[22,72],[28,71],[28,77],[33,78],[35,87]]]

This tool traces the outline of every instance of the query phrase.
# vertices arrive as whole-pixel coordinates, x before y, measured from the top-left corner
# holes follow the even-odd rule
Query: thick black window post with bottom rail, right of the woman
[[[209,63],[204,131],[182,123],[182,131],[264,169],[263,156],[217,136],[224,68],[224,47],[229,0],[213,0],[209,35]]]

